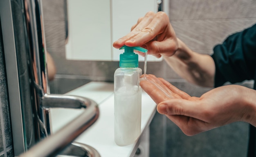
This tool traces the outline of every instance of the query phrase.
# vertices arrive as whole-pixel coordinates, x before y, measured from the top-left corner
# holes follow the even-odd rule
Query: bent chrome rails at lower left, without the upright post
[[[98,118],[99,112],[95,113],[96,103],[90,99],[78,96],[67,96],[66,98],[61,98],[57,95],[48,96],[45,97],[48,99],[45,101],[46,107],[47,102],[52,99],[53,104],[56,105],[54,107],[60,106],[63,102],[65,107],[69,108],[71,107],[70,105],[74,105],[75,108],[85,108],[85,112],[56,133],[42,139],[42,141],[32,146],[26,153],[21,154],[20,157],[54,157],[58,154],[76,157],[100,157],[97,150],[91,146],[72,142]],[[50,106],[52,107],[52,105]]]

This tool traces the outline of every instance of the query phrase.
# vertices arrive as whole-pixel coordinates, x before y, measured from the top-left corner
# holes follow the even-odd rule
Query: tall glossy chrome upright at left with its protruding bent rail
[[[34,150],[43,154],[33,153],[33,157],[72,155],[74,149],[86,152],[90,146],[70,143],[97,120],[99,108],[87,98],[50,94],[41,0],[1,0],[0,19],[14,155],[27,157]],[[51,135],[50,108],[83,108],[84,112]]]

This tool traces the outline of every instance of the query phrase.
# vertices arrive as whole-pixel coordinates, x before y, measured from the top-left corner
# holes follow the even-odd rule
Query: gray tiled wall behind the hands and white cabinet
[[[54,58],[58,76],[113,81],[118,62],[65,59],[63,0],[44,0],[43,6],[47,50]],[[169,17],[178,38],[196,52],[211,54],[214,45],[229,34],[254,24],[255,10],[255,0],[170,0]],[[143,63],[139,67],[143,69]],[[187,83],[164,61],[149,62],[147,73],[167,79],[191,96],[210,90]],[[243,85],[252,87],[250,82]],[[247,123],[232,123],[188,137],[165,116],[156,114],[150,125],[150,157],[245,157],[247,140]]]

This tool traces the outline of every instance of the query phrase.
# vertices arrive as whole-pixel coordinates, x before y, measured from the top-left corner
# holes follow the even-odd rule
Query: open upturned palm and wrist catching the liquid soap
[[[143,75],[141,78],[140,85],[157,103],[157,111],[165,114],[186,135],[196,135],[235,121],[255,124],[256,104],[252,100],[255,90],[226,85],[201,97],[193,97],[154,75]],[[159,90],[159,87],[164,89]]]

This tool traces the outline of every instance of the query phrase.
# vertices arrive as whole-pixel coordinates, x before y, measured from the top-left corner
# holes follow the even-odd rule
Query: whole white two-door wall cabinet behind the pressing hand
[[[167,0],[164,11],[168,11]],[[166,6],[166,7],[165,7]],[[157,0],[67,0],[68,60],[119,61],[112,43],[130,32],[137,19],[157,11]],[[162,58],[148,56],[148,61]],[[144,58],[139,56],[139,61]]]

